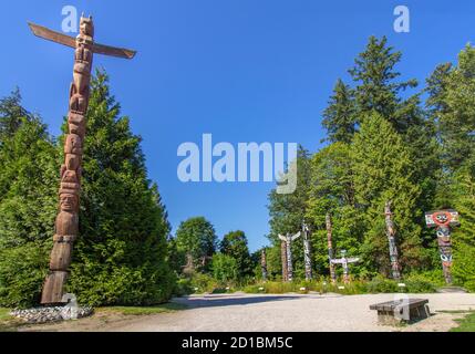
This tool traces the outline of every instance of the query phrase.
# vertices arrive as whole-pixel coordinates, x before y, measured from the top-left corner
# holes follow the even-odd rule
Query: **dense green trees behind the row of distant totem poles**
[[[401,60],[402,53],[385,38],[371,37],[349,70],[352,84],[338,80],[322,119],[329,144],[313,155],[299,154],[296,194],[269,195],[268,254],[280,254],[277,233],[297,232],[306,220],[312,230],[313,268],[328,277],[329,214],[335,254],[345,249],[362,258],[351,266],[352,274],[386,278],[391,272],[384,204],[392,201],[404,278],[410,282],[407,274],[419,273],[423,279],[415,281],[417,287],[428,290],[434,279],[424,277],[440,270],[441,261],[435,232],[426,228],[423,215],[454,208],[462,222],[453,233],[454,280],[473,290],[475,50],[466,46],[456,65],[438,65],[426,87],[415,92],[415,80],[400,79]],[[293,247],[295,273],[302,279],[302,244]],[[269,274],[279,277],[276,271]]]

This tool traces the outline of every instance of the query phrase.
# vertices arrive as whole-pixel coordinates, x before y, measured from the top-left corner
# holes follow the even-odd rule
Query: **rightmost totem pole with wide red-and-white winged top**
[[[452,209],[427,211],[425,223],[430,228],[436,228],[438,251],[441,253],[442,269],[447,284],[452,284],[452,240],[451,227],[459,226],[458,212]]]

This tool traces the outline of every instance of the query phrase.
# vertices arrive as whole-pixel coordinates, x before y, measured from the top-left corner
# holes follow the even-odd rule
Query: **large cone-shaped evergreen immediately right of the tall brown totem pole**
[[[146,176],[141,137],[120,116],[107,75],[97,71],[91,87],[69,291],[92,305],[166,301],[174,284],[166,263],[169,225]]]

